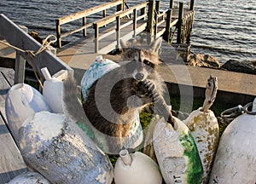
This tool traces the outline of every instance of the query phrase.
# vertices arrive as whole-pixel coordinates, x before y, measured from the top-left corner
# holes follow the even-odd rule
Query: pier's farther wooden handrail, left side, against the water
[[[67,16],[63,16],[57,20],[56,22],[56,36],[57,36],[57,42],[58,47],[61,48],[61,38],[67,37],[68,35],[71,35],[75,32],[80,32],[83,30],[83,36],[86,36],[86,29],[90,26],[93,26],[93,23],[86,23],[86,17],[88,17],[91,14],[97,14],[99,12],[102,12],[102,17],[106,17],[107,9],[111,9],[113,7],[116,7],[117,12],[122,11],[125,9],[125,0],[114,0],[113,2],[104,3],[102,5],[98,5],[96,7],[93,7],[91,9],[84,9],[83,11],[80,11],[75,14],[69,14]],[[77,29],[74,29],[69,32],[63,32],[61,33],[61,25],[73,22],[74,20],[82,19],[82,26],[80,26]]]

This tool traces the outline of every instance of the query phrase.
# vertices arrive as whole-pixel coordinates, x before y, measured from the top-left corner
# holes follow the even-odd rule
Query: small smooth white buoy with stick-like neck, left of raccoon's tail
[[[41,69],[44,75],[44,88],[43,95],[48,102],[52,112],[64,113],[62,106],[62,88],[63,82],[58,78],[52,78],[49,74],[47,67]]]

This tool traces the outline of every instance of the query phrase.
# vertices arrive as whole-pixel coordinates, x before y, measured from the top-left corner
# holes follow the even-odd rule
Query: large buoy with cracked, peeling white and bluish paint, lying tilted
[[[63,114],[37,112],[20,128],[20,152],[52,183],[111,183],[113,166]]]

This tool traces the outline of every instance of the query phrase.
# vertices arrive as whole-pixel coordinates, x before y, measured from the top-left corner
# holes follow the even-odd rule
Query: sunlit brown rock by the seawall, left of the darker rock
[[[221,65],[216,58],[212,55],[189,55],[188,56],[189,66],[199,66],[199,67],[212,67],[219,68]]]

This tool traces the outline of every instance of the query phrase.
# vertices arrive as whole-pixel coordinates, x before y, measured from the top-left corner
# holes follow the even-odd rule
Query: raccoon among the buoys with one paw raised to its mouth
[[[123,138],[129,135],[137,112],[145,106],[155,103],[158,112],[172,122],[172,113],[162,98],[164,82],[157,72],[161,42],[159,38],[149,49],[127,48],[122,43],[120,67],[99,78],[83,103],[90,124],[104,135],[116,138],[109,142],[113,152],[124,147]],[[70,90],[66,87],[64,83],[64,90]]]

